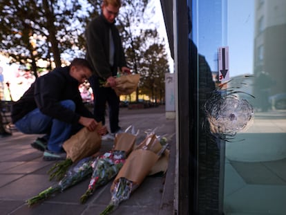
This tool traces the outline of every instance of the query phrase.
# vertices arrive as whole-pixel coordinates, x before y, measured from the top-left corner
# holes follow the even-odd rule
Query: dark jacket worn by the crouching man
[[[69,74],[70,66],[55,68],[43,75],[28,88],[23,96],[12,105],[12,122],[15,123],[30,111],[39,108],[41,113],[70,124],[79,121],[80,116],[93,118],[86,109],[79,93],[79,82]],[[75,112],[64,108],[59,102],[73,100]]]

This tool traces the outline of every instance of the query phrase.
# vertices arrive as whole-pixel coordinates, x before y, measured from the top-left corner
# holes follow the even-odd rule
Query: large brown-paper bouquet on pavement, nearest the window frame
[[[166,138],[162,138],[162,141],[160,141],[155,133],[147,135],[145,140],[131,152],[115,180],[113,180],[111,185],[111,202],[101,215],[113,212],[123,200],[127,200],[146,176],[166,171],[169,160],[167,146]],[[164,163],[166,165],[161,163],[161,168],[158,168],[156,165],[161,159],[165,159]]]

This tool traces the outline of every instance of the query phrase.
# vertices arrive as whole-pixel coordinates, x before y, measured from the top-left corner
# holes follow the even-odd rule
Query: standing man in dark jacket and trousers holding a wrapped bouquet
[[[122,73],[131,73],[126,67],[122,41],[115,26],[115,17],[120,7],[120,0],[103,0],[102,14],[90,21],[86,29],[86,59],[95,72],[89,82],[93,88],[94,115],[97,122],[105,124],[106,102],[108,103],[111,133],[104,135],[102,140],[113,140],[115,133],[122,132],[119,126],[120,98],[112,87],[116,85],[115,76],[118,69]],[[111,87],[101,86],[104,82],[108,82]]]

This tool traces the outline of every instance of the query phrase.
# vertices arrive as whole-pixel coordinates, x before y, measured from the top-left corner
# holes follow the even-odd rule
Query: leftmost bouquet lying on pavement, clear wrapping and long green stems
[[[30,207],[36,203],[39,203],[41,200],[46,200],[53,194],[59,191],[64,191],[68,187],[72,187],[90,176],[93,173],[92,163],[95,159],[96,157],[90,156],[88,158],[79,160],[76,165],[73,165],[68,169],[66,175],[59,181],[59,183],[45,189],[44,191],[41,191],[37,196],[33,196],[32,198],[26,200],[28,206]]]

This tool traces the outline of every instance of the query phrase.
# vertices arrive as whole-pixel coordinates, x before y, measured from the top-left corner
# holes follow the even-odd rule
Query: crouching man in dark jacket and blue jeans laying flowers
[[[12,122],[27,134],[46,134],[47,145],[38,139],[32,147],[44,151],[44,160],[65,160],[62,144],[82,127],[94,131],[93,114],[86,109],[79,93],[92,75],[86,59],[75,58],[70,66],[55,68],[43,75],[12,105]],[[100,130],[104,134],[106,128]]]

